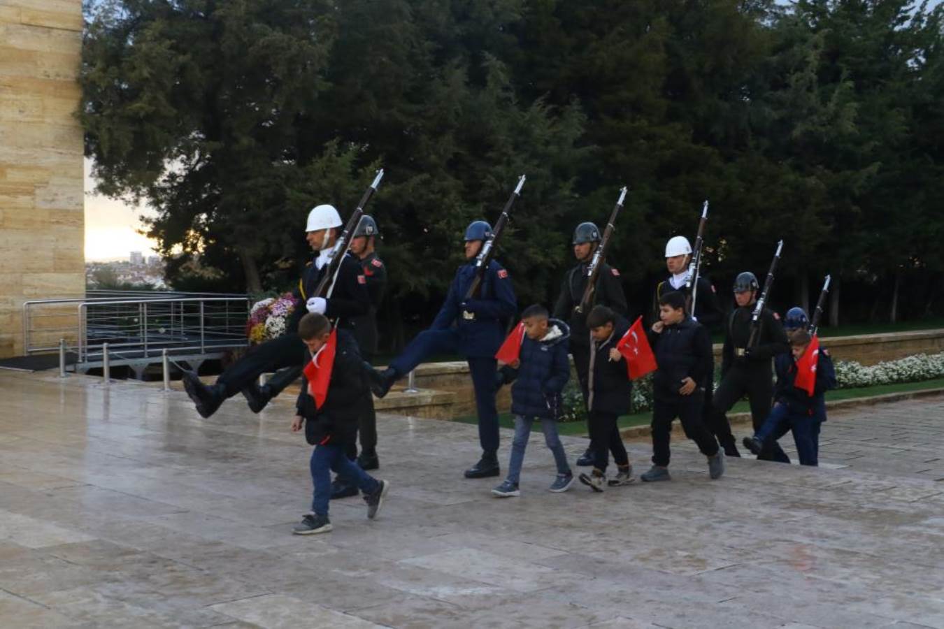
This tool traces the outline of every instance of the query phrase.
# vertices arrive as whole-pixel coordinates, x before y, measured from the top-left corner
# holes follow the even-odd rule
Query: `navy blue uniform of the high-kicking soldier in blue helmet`
[[[459,353],[468,361],[479,415],[479,440],[485,453],[498,449],[498,411],[495,406],[495,354],[505,339],[508,320],[517,310],[512,280],[495,260],[488,265],[479,296],[464,302],[475,277],[475,264],[464,264],[456,272],[446,301],[430,329],[420,332],[390,367],[397,375],[412,372],[434,354]],[[467,319],[464,311],[474,317]]]

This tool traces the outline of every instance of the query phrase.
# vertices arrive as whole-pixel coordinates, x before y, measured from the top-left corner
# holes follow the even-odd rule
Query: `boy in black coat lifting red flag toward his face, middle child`
[[[632,381],[626,370],[623,355],[616,343],[623,338],[630,324],[606,306],[594,306],[587,315],[590,328],[590,366],[587,370],[587,409],[590,425],[590,445],[594,450],[593,472],[580,475],[581,482],[594,491],[607,485],[629,485],[632,465],[619,435],[616,419],[630,412]],[[616,477],[606,481],[609,452],[618,468]]]

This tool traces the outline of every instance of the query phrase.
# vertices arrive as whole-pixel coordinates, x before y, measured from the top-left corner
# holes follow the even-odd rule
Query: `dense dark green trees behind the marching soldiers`
[[[840,295],[851,319],[895,317],[900,295],[912,316],[944,277],[942,17],[908,0],[108,0],[88,11],[79,116],[101,191],[144,199],[162,253],[199,253],[225,290],[291,283],[308,209],[345,214],[382,165],[370,211],[399,338],[518,174],[501,258],[522,302],[555,297],[574,225],[626,184],[611,260],[636,304],[708,198],[722,290],[784,239],[776,301],[833,273],[834,320]]]

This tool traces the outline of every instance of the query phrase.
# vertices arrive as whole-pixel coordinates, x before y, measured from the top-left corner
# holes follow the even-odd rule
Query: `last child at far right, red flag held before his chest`
[[[826,421],[825,393],[835,387],[835,370],[829,352],[819,348],[813,395],[810,396],[804,389],[797,389],[797,363],[809,349],[812,340],[805,329],[793,330],[790,333],[791,354],[777,356],[774,361],[777,389],[774,392],[773,409],[760,430],[753,437],[744,438],[744,447],[755,455],[783,437],[787,431],[792,431],[800,464],[819,465],[819,427]]]

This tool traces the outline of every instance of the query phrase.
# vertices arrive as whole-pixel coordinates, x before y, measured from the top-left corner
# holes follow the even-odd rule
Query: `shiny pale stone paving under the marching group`
[[[313,537],[291,405],[0,372],[0,626],[944,627],[944,398],[834,416],[828,467],[710,481],[676,439],[672,482],[602,495],[549,493],[535,435],[506,500],[474,426],[381,416],[389,501]]]

